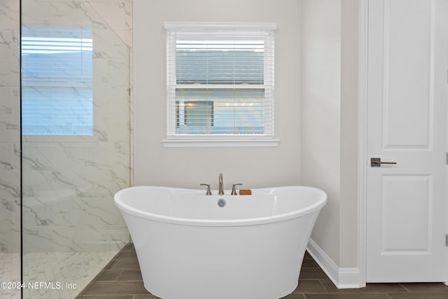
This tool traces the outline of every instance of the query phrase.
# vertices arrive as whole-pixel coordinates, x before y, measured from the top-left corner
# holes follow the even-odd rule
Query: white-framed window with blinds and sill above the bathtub
[[[165,29],[164,145],[274,141],[276,25],[165,22]]]

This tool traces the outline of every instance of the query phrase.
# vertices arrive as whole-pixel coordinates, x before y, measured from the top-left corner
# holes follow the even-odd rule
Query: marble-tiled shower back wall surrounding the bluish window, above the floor
[[[113,194],[130,186],[132,2],[22,0],[22,24],[91,27],[93,136],[25,135],[23,249],[118,251],[129,242]]]

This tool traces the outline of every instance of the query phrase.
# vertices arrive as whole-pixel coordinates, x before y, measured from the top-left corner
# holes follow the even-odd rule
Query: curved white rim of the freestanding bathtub
[[[203,190],[200,189],[188,189],[188,188],[176,188],[176,187],[165,187],[165,186],[132,186],[128,188],[124,188],[119,190],[115,195],[113,195],[113,201],[120,209],[121,212],[125,212],[127,214],[131,214],[133,216],[137,216],[139,218],[148,219],[151,221],[158,221],[162,223],[171,223],[176,225],[189,225],[189,226],[246,226],[246,225],[260,225],[267,223],[276,223],[279,221],[287,221],[292,218],[297,218],[301,216],[306,216],[308,214],[312,214],[315,211],[320,211],[321,208],[328,201],[327,194],[318,188],[310,187],[310,186],[279,186],[272,188],[258,188],[252,189],[253,195],[258,194],[271,194],[276,195],[276,190],[286,190],[288,188],[297,188],[297,189],[308,189],[314,191],[316,193],[316,202],[310,204],[304,209],[298,209],[295,211],[289,211],[283,214],[277,214],[273,216],[264,216],[264,217],[255,217],[255,218],[240,218],[240,219],[195,219],[195,218],[181,218],[174,216],[165,216],[160,214],[151,213],[148,211],[141,211],[135,207],[132,207],[130,204],[124,202],[123,194],[129,192],[131,189],[151,189],[157,188],[161,190],[168,191],[165,196],[168,195],[200,195],[202,196]],[[162,195],[163,196],[163,195]],[[204,195],[207,196],[207,195]],[[224,197],[230,196],[228,194],[223,195]],[[241,195],[242,196],[242,195]],[[247,195],[250,196],[250,195]]]

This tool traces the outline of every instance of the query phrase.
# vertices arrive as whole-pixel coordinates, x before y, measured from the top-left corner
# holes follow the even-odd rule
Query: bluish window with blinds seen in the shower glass
[[[93,134],[91,28],[22,27],[22,134]]]

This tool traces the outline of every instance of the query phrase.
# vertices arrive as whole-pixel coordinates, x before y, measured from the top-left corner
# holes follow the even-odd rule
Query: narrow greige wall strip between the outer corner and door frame
[[[341,0],[339,267],[358,267],[359,1]]]

